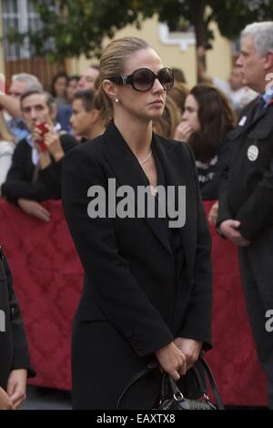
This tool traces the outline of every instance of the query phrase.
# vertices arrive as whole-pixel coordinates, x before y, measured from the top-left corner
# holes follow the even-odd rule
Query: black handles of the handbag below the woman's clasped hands
[[[207,374],[207,378],[208,378],[208,381],[210,383],[212,392],[213,392],[213,394],[215,396],[215,399],[216,399],[217,410],[225,410],[224,404],[223,404],[223,402],[221,400],[221,397],[220,397],[220,394],[219,394],[219,392],[217,390],[217,384],[215,382],[214,376],[213,376],[213,374],[212,374],[212,372],[211,372],[211,370],[210,370],[207,362],[201,356],[199,356],[199,358],[198,358],[197,361],[200,362],[202,364],[202,366],[204,367],[204,369],[205,369],[205,372]],[[121,403],[124,395],[126,394],[126,392],[139,379],[141,379],[143,376],[145,376],[148,372],[151,372],[152,370],[158,369],[158,367],[159,367],[158,362],[150,362],[149,364],[147,364],[147,367],[145,369],[141,370],[140,372],[137,372],[135,374],[135,376],[132,377],[132,379],[127,383],[126,388],[123,390],[123,392],[119,396],[119,399],[118,399],[117,404],[116,404],[116,410],[119,410],[120,403]],[[201,392],[206,396],[206,388],[204,386],[204,383],[202,382],[202,377],[200,376],[199,372],[197,371],[197,367],[196,366],[193,366],[192,368],[193,368],[193,371],[195,372],[199,388],[200,388]],[[167,373],[164,373],[164,374],[167,375]],[[169,376],[169,379],[170,379],[170,382],[171,382],[171,386],[172,386],[173,392],[181,394],[179,388],[177,387],[177,383],[170,376]],[[162,384],[163,383],[164,382],[162,382]],[[165,393],[165,391],[163,391],[163,393]]]

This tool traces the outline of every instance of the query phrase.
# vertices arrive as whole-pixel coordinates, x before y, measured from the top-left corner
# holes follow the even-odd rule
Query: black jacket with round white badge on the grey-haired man
[[[273,224],[273,103],[253,120],[256,107],[254,100],[243,110],[241,125],[229,134],[232,155],[223,168],[217,219],[217,226],[238,219],[239,231],[248,240]],[[258,149],[252,160],[251,146]]]

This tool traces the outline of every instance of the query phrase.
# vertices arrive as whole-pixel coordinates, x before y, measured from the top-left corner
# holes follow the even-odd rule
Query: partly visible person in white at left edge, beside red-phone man
[[[1,186],[5,182],[7,172],[12,164],[15,151],[15,136],[6,126],[3,111],[0,111],[0,197]]]

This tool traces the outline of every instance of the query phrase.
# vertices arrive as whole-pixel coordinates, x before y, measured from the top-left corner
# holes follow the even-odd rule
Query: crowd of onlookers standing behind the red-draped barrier
[[[59,72],[51,91],[45,92],[36,76],[20,73],[12,76],[8,93],[0,95],[0,195],[40,219],[47,220],[48,215],[38,202],[60,198],[60,166],[66,151],[102,134],[111,120],[95,95],[98,74],[98,65],[81,76]],[[163,115],[154,118],[153,129],[190,144],[203,199],[217,199],[220,165],[227,151],[225,135],[235,127],[238,105],[248,104],[246,93],[256,93],[243,84],[237,65],[229,78],[232,96],[212,83],[190,89],[181,70],[176,69],[174,76],[175,85],[167,94]],[[44,122],[45,151],[38,127]]]

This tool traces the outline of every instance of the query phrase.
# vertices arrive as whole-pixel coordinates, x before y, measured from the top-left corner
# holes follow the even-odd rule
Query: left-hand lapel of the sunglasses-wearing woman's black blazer
[[[106,158],[116,178],[116,187],[126,185],[134,189],[135,199],[132,200],[132,203],[135,205],[135,213],[137,215],[137,187],[146,187],[148,185],[147,178],[139,166],[136,156],[126,144],[125,139],[113,122],[107,127],[105,138],[107,148]],[[158,219],[157,217],[146,217],[143,220],[147,222],[148,227],[152,230],[159,242],[171,253],[162,219]]]

